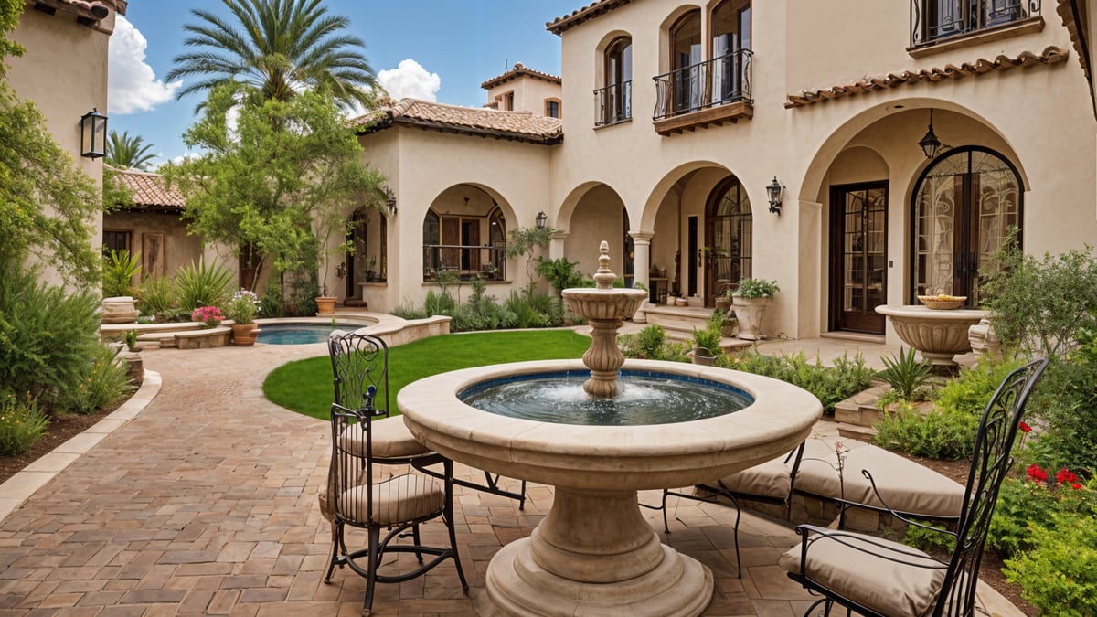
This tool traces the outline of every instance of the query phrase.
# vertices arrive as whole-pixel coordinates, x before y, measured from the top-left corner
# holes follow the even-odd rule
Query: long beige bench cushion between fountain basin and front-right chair
[[[896,512],[930,518],[960,516],[964,487],[952,480],[883,448],[852,439],[838,439],[846,452],[842,486],[838,481],[838,458],[834,439],[808,439],[800,464],[795,489],[827,498],[845,498],[883,507],[861,470],[875,480],[880,495]]]

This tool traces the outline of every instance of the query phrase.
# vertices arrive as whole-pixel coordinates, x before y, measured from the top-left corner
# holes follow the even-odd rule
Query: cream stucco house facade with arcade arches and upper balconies
[[[777,279],[766,334],[792,338],[894,338],[874,304],[976,289],[974,272],[1010,223],[1033,254],[1097,240],[1093,100],[1048,3],[1042,14],[1025,3],[1000,24],[927,43],[921,31],[912,37],[906,4],[737,2],[737,27],[749,32],[734,36],[749,54],[735,57],[749,69],[712,57],[726,4],[603,0],[551,23],[562,42],[563,139],[395,122],[363,134],[398,199],[387,221],[389,274],[366,290],[370,305],[421,300],[431,288],[425,220],[465,197],[497,204],[508,229],[544,211],[564,231],[548,255],[584,271],[608,239],[615,263],[632,260],[619,273],[651,283],[651,271],[667,269],[668,287],[677,279],[691,305],[712,305],[715,288],[740,276]],[[858,34],[842,36],[850,15]],[[693,85],[675,93],[672,104],[685,103],[670,113],[653,78],[682,64],[689,19],[700,36],[686,41],[693,56],[677,75]],[[631,38],[631,114],[607,123],[592,92],[617,79],[604,55],[621,37]],[[702,72],[722,68],[722,78]],[[733,82],[748,86],[717,101],[713,92]],[[930,111],[948,147],[927,158],[918,143]],[[774,178],[780,214],[767,203]],[[842,204],[856,213],[836,214]],[[522,267],[508,263],[509,283],[498,284],[524,284]]]

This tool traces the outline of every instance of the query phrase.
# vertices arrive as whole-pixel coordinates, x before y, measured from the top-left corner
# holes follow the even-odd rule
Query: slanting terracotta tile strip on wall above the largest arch
[[[921,70],[905,70],[900,74],[890,72],[884,77],[866,77],[860,81],[851,83],[840,83],[823,90],[804,90],[799,94],[789,94],[785,108],[802,108],[814,103],[822,103],[832,99],[851,97],[895,88],[919,81],[941,81],[945,79],[960,79],[972,75],[981,75],[992,70],[1009,70],[1011,68],[1027,68],[1040,65],[1053,65],[1066,60],[1070,52],[1062,47],[1048,47],[1040,55],[1032,52],[1021,52],[1017,57],[1009,57],[1002,54],[988,60],[979,58],[972,63],[963,63],[960,66],[945,65],[945,68],[930,68]]]

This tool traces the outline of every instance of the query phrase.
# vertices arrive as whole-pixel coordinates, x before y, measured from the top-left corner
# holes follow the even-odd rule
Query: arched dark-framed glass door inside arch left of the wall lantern
[[[739,179],[730,176],[716,184],[705,210],[705,304],[728,284],[750,276],[750,198]]]

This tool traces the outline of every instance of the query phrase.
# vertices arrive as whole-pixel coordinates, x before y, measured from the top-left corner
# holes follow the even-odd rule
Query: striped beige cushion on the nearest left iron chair
[[[445,503],[445,489],[433,478],[407,473],[373,485],[373,519],[378,525],[406,523],[433,514]],[[365,486],[344,491],[338,504],[344,518],[365,521]]]

